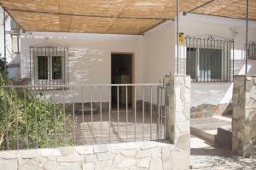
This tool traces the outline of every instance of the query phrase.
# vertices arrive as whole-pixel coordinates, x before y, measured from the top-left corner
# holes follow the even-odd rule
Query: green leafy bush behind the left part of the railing
[[[70,117],[60,105],[26,88],[4,87],[8,83],[1,69],[0,150],[26,148],[26,144],[29,148],[71,144],[70,138],[64,138],[71,128]]]

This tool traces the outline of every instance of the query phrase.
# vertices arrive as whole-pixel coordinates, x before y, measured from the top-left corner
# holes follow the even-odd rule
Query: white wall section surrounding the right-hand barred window
[[[243,74],[245,69],[245,42],[246,42],[246,22],[245,20],[234,20],[220,17],[205,16],[199,14],[187,14],[181,16],[180,31],[184,33],[184,37],[196,37],[200,35],[217,35],[227,39],[235,40],[235,74]],[[234,37],[231,30],[238,32]],[[256,41],[256,22],[249,22],[249,41]],[[254,68],[253,68],[254,67]],[[248,60],[248,73],[256,74],[255,60]],[[242,70],[241,70],[242,69]],[[191,106],[201,104],[225,104],[230,103],[232,99],[233,83],[227,82],[192,82],[191,87]]]

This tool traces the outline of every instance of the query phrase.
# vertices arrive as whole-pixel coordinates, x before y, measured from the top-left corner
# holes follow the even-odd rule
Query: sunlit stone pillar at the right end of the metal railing
[[[165,82],[166,138],[190,151],[190,77],[166,76]]]

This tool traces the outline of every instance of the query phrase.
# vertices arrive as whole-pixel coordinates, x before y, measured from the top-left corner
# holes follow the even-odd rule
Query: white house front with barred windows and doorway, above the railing
[[[143,35],[20,32],[20,78],[35,85],[160,82],[165,75],[177,73],[176,24],[176,20],[168,20]],[[207,107],[210,116],[222,114],[231,102],[233,75],[245,71],[245,20],[184,14],[180,32],[179,74],[194,75],[191,107],[195,112]],[[249,42],[256,41],[255,21],[249,22],[248,32]],[[3,45],[1,48],[3,51]],[[255,55],[255,46],[251,49]],[[191,60],[192,52],[195,60]],[[253,65],[256,59],[249,59],[248,74],[256,73]]]

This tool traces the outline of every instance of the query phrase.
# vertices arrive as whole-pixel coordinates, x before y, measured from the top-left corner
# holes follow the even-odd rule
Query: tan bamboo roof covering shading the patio
[[[256,20],[256,0],[250,0]],[[176,0],[0,0],[24,31],[143,34],[176,17]],[[246,0],[180,0],[181,12],[244,19]]]

